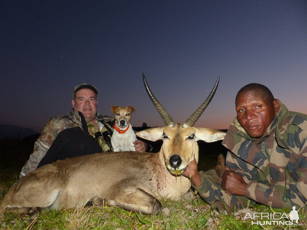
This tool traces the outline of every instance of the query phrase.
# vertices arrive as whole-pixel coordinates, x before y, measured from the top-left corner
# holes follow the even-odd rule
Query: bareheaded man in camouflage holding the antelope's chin
[[[250,200],[276,208],[307,208],[307,115],[288,111],[270,90],[251,83],[235,98],[237,117],[222,144],[226,167],[216,184],[192,161],[184,175],[214,207]]]

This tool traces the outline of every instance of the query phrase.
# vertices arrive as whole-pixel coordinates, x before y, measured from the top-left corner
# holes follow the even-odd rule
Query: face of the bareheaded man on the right
[[[242,92],[235,102],[240,125],[249,136],[257,139],[264,134],[279,109],[278,101],[268,102],[261,91]]]

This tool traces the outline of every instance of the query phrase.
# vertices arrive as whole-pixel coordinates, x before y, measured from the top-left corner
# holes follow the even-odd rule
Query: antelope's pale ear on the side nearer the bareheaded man
[[[218,140],[223,140],[226,132],[211,128],[195,128],[195,141],[203,140],[205,142],[214,142]]]

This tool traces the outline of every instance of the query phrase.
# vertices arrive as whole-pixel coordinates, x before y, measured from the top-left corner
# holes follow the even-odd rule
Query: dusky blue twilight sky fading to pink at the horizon
[[[132,105],[131,124],[164,126],[142,82],[175,122],[207,98],[197,127],[224,129],[238,90],[266,85],[307,113],[307,2],[0,1],[0,124],[41,132],[71,110],[73,88],[98,89],[98,111]]]

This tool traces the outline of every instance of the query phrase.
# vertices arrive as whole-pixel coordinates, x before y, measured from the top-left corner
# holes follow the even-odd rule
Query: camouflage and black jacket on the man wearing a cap
[[[96,121],[113,121],[114,118],[96,114]],[[96,131],[107,131],[105,125],[99,124],[102,129]],[[108,125],[108,124],[107,124]],[[90,130],[89,130],[90,128]],[[19,177],[23,177],[37,167],[52,163],[58,159],[65,159],[77,155],[88,155],[107,151],[108,146],[102,137],[99,141],[94,138],[91,127],[86,123],[83,114],[73,111],[63,116],[52,117],[47,122],[41,135],[34,144],[33,153],[25,163]],[[109,126],[111,130],[113,127]],[[89,132],[90,131],[90,132]],[[95,131],[94,131],[95,132]],[[91,134],[91,135],[90,135]]]

